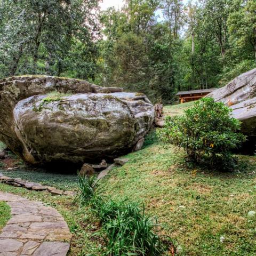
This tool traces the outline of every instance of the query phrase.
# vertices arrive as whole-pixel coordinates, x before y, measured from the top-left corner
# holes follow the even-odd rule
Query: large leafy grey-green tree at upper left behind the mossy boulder
[[[98,0],[2,0],[0,51],[7,75],[60,75],[73,43],[91,51],[97,8]]]

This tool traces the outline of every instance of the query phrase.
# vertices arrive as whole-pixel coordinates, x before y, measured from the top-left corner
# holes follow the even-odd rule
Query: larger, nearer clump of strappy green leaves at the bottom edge
[[[163,242],[157,235],[157,221],[145,215],[144,210],[141,212],[137,203],[119,204],[103,228],[108,238],[106,256],[157,256],[164,252]]]

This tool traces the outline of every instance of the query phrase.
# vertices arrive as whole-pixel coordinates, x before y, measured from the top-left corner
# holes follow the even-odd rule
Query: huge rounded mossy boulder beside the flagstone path
[[[0,80],[0,141],[33,164],[97,162],[137,148],[154,121],[141,93],[79,79]]]

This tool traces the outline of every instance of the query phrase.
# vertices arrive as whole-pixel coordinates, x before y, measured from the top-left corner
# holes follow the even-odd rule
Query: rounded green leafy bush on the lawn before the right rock
[[[234,163],[231,149],[246,138],[238,133],[240,126],[241,122],[231,117],[230,108],[203,98],[185,110],[185,115],[166,117],[157,135],[164,143],[184,148],[190,162],[230,169]]]

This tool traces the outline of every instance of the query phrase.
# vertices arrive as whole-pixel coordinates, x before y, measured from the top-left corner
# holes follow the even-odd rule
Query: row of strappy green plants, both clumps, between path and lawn
[[[74,202],[91,205],[99,217],[107,242],[102,255],[111,256],[157,256],[164,252],[164,243],[157,235],[157,220],[145,214],[138,203],[113,201],[101,194],[96,177],[78,175],[78,194]],[[98,191],[100,190],[100,191]]]

